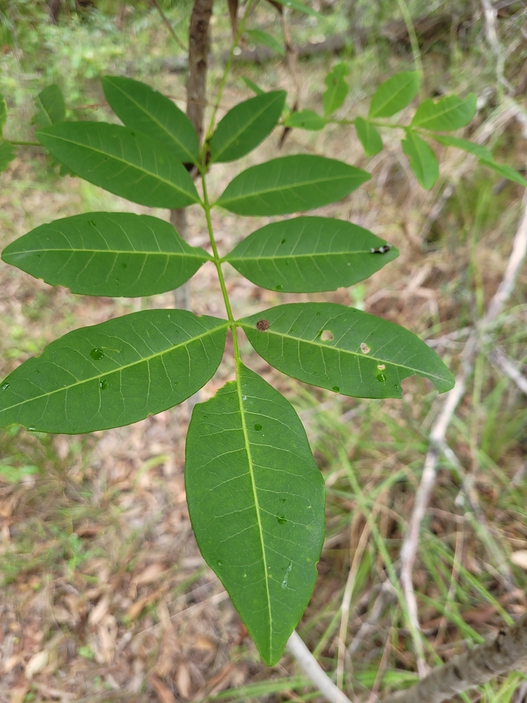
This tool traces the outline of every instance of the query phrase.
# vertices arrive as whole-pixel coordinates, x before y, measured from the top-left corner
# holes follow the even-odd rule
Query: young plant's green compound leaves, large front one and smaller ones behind
[[[324,114],[313,112],[323,124],[344,102],[345,75],[337,66],[326,79]],[[367,119],[349,121],[366,153],[382,148],[379,119],[408,105],[417,85],[417,74],[398,74],[379,87]],[[209,170],[215,163],[238,160],[271,134],[285,108],[285,91],[261,92],[236,105],[200,148],[186,115],[162,94],[124,77],[105,77],[103,88],[124,126],[65,122],[64,110],[49,104],[56,91],[48,90],[40,101],[39,143],[70,172],[141,205],[200,205],[212,254],[188,245],[161,219],[89,212],[35,228],[4,250],[4,261],[74,293],[114,297],[177,288],[210,261],[226,318],[154,309],[74,330],[4,380],[0,425],[79,434],[160,413],[213,377],[230,332],[235,380],[194,407],[188,428],[188,507],[204,559],[226,587],[265,662],[275,664],[315,583],[324,536],[324,484],[294,408],[243,363],[238,328],[282,373],[349,396],[400,398],[401,381],[414,374],[445,392],[453,376],[409,330],[344,305],[289,303],[235,316],[224,262],[263,288],[309,293],[353,285],[398,255],[395,247],[355,224],[306,216],[263,226],[233,251],[219,254],[214,207],[246,217],[304,212],[346,198],[370,179],[339,160],[284,156],[242,171],[211,202]],[[425,101],[410,126],[401,125],[403,148],[425,187],[435,180],[437,162],[422,136],[467,124],[474,109],[471,96]],[[305,113],[302,119],[312,125],[313,115]],[[0,127],[5,114],[0,103]],[[306,127],[297,124],[301,115],[291,115],[285,124]],[[493,163],[490,153],[469,142],[434,138],[477,149],[474,153]],[[4,153],[11,148],[0,143],[0,154],[3,144]],[[192,169],[200,174],[202,195]]]

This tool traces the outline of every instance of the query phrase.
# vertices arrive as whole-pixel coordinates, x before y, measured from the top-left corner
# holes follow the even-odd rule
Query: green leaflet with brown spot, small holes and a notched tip
[[[271,366],[344,395],[401,398],[401,381],[416,373],[440,393],[454,385],[443,361],[419,337],[344,305],[278,305],[238,323]]]

